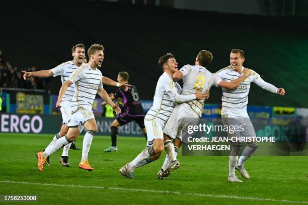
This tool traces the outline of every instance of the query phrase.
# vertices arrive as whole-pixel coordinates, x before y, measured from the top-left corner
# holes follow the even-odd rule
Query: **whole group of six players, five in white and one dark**
[[[60,108],[63,125],[45,150],[37,153],[38,168],[41,171],[43,171],[44,164],[49,164],[49,156],[63,146],[60,162],[64,166],[69,166],[67,156],[70,143],[75,141],[84,127],[87,129],[87,133],[83,141],[82,160],[79,167],[89,171],[93,170],[88,162],[88,153],[92,139],[97,132],[97,124],[92,112],[92,104],[96,94],[99,94],[116,114],[121,113],[121,110],[113,103],[113,99],[123,98],[126,108],[126,112],[119,115],[111,124],[112,146],[107,148],[105,152],[117,151],[117,129],[131,121],[135,121],[139,125],[147,139],[146,148],[131,162],[124,165],[119,172],[123,176],[134,178],[135,168],[157,160],[165,150],[167,155],[157,178],[166,179],[172,171],[181,166],[177,160],[182,144],[181,133],[187,126],[199,122],[204,100],[209,97],[211,86],[222,87],[221,116],[223,124],[230,125],[233,123],[232,119],[235,118],[245,121],[242,122],[245,125],[244,131],[233,133],[236,136],[254,137],[256,135],[247,114],[251,82],[273,93],[280,95],[285,93],[283,88],[277,88],[265,82],[258,73],[244,68],[243,50],[233,49],[230,52],[230,65],[216,73],[211,73],[206,69],[213,58],[209,51],[201,50],[195,59],[195,65],[185,65],[180,69],[178,69],[175,56],[167,53],[159,59],[159,67],[164,73],[158,79],[153,106],[144,116],[136,87],[127,84],[128,73],[120,72],[118,82],[102,76],[98,68],[101,67],[104,60],[103,50],[102,45],[93,44],[88,49],[89,62],[86,64],[84,63],[85,47],[83,44],[78,44],[72,48],[72,61],[67,61],[51,70],[24,72],[24,78],[60,75],[62,79],[57,107]],[[183,88],[177,83],[180,79],[183,80]],[[118,86],[120,89],[115,95],[109,96],[104,90],[103,84]],[[257,147],[257,142],[248,143],[239,158],[242,143],[232,143],[229,155],[229,181],[243,182],[237,178],[235,169],[239,170],[244,178],[250,178],[244,168],[244,163]]]

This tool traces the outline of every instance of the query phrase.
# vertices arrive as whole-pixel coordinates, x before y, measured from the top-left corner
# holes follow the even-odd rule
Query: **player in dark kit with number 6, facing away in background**
[[[128,73],[127,72],[119,72],[117,81],[119,83],[128,82]],[[146,130],[144,126],[144,111],[141,106],[141,102],[139,101],[139,94],[137,88],[132,85],[131,89],[125,91],[120,88],[114,95],[111,95],[110,98],[114,100],[115,98],[121,97],[124,102],[124,106],[126,109],[125,113],[122,113],[111,123],[111,147],[104,150],[104,152],[112,152],[117,151],[117,136],[118,136],[118,128],[120,126],[126,125],[131,121],[135,121],[139,127],[141,128],[142,133],[146,138]]]

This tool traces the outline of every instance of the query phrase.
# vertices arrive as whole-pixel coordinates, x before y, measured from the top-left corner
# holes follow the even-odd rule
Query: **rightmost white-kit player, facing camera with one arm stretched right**
[[[243,63],[245,61],[244,51],[240,49],[233,49],[230,52],[230,66],[220,69],[216,74],[226,81],[238,79],[243,76],[245,69]],[[244,125],[243,132],[234,133],[234,136],[255,137],[256,133],[254,127],[249,119],[247,113],[248,94],[251,82],[256,83],[258,86],[270,92],[284,95],[283,88],[277,88],[274,85],[265,82],[258,73],[251,70],[251,75],[236,89],[227,89],[222,87],[222,122],[225,125],[239,124]],[[228,135],[231,135],[228,133]],[[229,136],[230,137],[230,136]],[[235,175],[235,169],[239,170],[241,175],[249,179],[250,176],[244,168],[244,162],[256,151],[258,148],[257,142],[247,142],[247,147],[238,160],[238,155],[242,148],[241,142],[233,142],[232,150],[229,155],[229,175],[228,181],[243,182]]]

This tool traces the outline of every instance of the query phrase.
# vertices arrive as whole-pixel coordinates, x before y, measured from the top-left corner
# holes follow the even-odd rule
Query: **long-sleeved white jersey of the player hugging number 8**
[[[172,76],[164,72],[157,82],[153,106],[148,110],[145,119],[151,120],[158,118],[166,123],[176,103],[193,100],[195,98],[195,94],[187,96],[178,94],[178,88]]]

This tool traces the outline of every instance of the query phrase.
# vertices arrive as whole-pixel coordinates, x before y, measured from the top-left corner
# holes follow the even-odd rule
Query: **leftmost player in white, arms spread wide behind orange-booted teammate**
[[[56,66],[53,69],[50,70],[40,70],[40,71],[36,71],[36,72],[27,72],[27,71],[22,71],[24,72],[24,79],[26,79],[27,77],[33,76],[33,77],[50,77],[50,76],[61,76],[61,81],[62,84],[68,79],[68,77],[71,75],[71,73],[78,69],[80,66],[84,65],[84,59],[85,59],[85,46],[83,44],[77,44],[75,46],[72,47],[71,49],[71,54],[73,56],[73,60],[72,61],[67,61],[64,62],[58,66]],[[112,85],[112,86],[126,86],[124,84],[119,84],[113,80],[111,80],[108,77],[103,77],[103,84],[107,84],[107,85]],[[71,104],[71,98],[73,96],[74,93],[74,85],[70,85],[66,92],[64,93],[63,97],[62,97],[62,101],[61,101],[61,115],[62,115],[62,127],[60,129],[60,132],[58,132],[52,139],[52,141],[50,142],[50,144],[47,147],[50,147],[57,139],[59,139],[60,137],[63,137],[67,131],[68,131],[68,127],[66,126],[68,121],[71,118],[71,112],[70,112],[70,104]],[[80,132],[82,132],[83,130],[83,126],[80,127]],[[63,152],[60,158],[60,163],[63,166],[69,167],[69,163],[68,163],[68,150],[71,146],[71,143],[65,145],[63,147]],[[46,163],[49,165],[49,157],[47,158]]]

